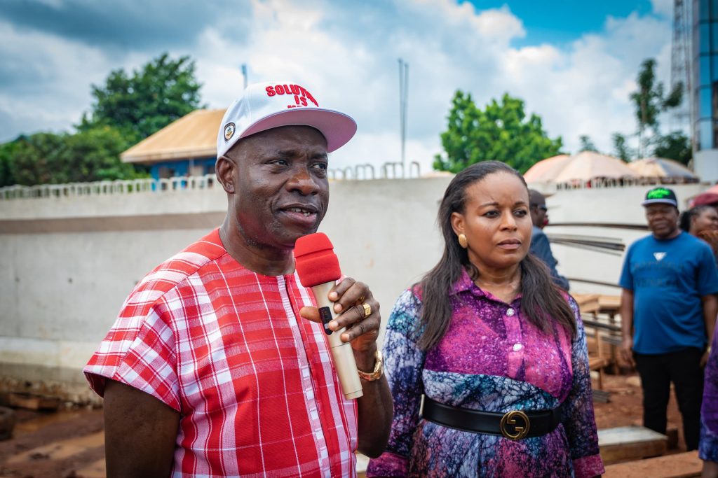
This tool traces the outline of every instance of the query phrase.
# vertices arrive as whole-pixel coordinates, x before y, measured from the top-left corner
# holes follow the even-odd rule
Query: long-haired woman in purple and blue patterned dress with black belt
[[[368,477],[594,477],[598,450],[576,302],[528,255],[522,176],[477,163],[439,208],[444,254],[386,326],[394,418]]]

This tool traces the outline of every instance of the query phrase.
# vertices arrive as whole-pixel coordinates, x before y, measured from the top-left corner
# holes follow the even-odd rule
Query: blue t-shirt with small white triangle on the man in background
[[[711,248],[686,232],[631,244],[620,286],[633,290],[633,350],[668,353],[707,342],[701,297],[718,292]]]

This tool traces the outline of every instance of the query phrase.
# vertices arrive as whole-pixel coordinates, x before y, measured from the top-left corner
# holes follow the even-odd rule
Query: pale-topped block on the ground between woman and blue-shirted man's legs
[[[598,446],[604,463],[659,457],[666,453],[668,436],[643,426],[620,426],[599,430]]]

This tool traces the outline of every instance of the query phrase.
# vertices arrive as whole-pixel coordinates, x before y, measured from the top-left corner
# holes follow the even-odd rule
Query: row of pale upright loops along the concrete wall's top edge
[[[327,171],[331,179],[337,181],[365,181],[371,179],[402,179],[418,178],[419,163],[409,163],[408,174],[405,174],[401,163],[384,163],[381,175],[371,164],[358,164],[343,169]],[[213,188],[217,178],[214,174],[205,176],[176,176],[174,178],[153,179],[117,179],[115,181],[94,181],[91,183],[39,184],[37,186],[6,186],[0,188],[0,201],[10,199],[32,198],[69,198],[80,196],[108,196],[110,194],[135,194],[164,191],[194,191]]]

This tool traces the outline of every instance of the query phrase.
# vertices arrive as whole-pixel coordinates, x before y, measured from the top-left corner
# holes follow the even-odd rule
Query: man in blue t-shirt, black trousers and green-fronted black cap
[[[678,228],[678,201],[668,188],[645,195],[651,235],[626,252],[621,273],[621,355],[643,386],[643,424],[666,433],[671,382],[689,450],[698,448],[703,366],[718,313],[718,273],[705,242]]]

